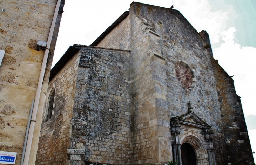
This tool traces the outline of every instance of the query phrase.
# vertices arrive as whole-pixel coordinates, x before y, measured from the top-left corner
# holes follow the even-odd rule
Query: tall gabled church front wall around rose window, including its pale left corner
[[[213,126],[220,162],[224,137],[212,53],[204,47],[209,41],[176,10],[132,3],[129,12],[131,35],[128,41],[124,38],[121,42],[131,43],[130,47],[124,46],[131,50],[130,163],[156,163],[171,158],[169,117],[186,114],[189,101],[195,114]],[[123,22],[128,23],[126,19]],[[118,33],[117,29],[122,28],[112,32]],[[119,48],[119,44],[108,44],[110,39],[111,43],[120,43],[110,34],[99,45]],[[177,80],[174,68],[178,61],[193,70],[191,91],[183,89]]]

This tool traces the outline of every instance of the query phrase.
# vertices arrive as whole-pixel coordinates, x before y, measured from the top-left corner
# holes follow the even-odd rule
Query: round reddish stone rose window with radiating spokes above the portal
[[[178,62],[175,66],[176,76],[183,88],[189,89],[192,85],[192,71],[184,62]]]

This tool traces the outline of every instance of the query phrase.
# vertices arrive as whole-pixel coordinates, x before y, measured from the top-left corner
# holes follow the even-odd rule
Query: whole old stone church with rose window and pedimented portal
[[[50,73],[36,164],[252,165],[240,97],[209,36],[133,2]]]

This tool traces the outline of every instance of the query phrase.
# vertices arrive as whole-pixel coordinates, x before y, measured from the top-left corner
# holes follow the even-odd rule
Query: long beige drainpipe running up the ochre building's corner
[[[24,165],[28,165],[28,161],[29,161],[32,139],[33,139],[34,128],[35,128],[35,122],[36,122],[35,121],[36,120],[36,114],[37,114],[37,111],[38,111],[38,105],[39,105],[39,100],[40,100],[40,95],[41,95],[42,84],[43,84],[43,77],[45,75],[45,68],[46,68],[46,63],[47,63],[47,59],[48,59],[49,48],[50,48],[50,44],[52,42],[53,31],[54,31],[54,27],[55,27],[55,24],[56,24],[58,11],[59,11],[59,8],[60,8],[60,2],[61,2],[61,0],[58,0],[57,4],[56,4],[56,7],[55,7],[53,20],[52,20],[52,25],[50,27],[50,32],[49,32],[49,36],[48,36],[48,40],[47,40],[45,55],[43,57],[42,68],[41,68],[40,77],[39,77],[39,81],[38,81],[38,88],[36,89],[35,103],[34,103],[34,108],[33,108],[33,113],[32,113],[32,118],[31,118],[31,124],[30,124],[30,127],[29,127],[27,146],[26,146],[25,157],[24,157],[24,162],[23,162]]]

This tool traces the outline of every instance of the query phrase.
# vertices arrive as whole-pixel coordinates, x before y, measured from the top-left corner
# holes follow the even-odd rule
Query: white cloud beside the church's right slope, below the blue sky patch
[[[222,32],[221,39],[224,43],[213,49],[214,58],[218,59],[219,64],[230,76],[234,75],[236,92],[242,97],[244,114],[256,114],[253,105],[256,92],[254,87],[256,48],[241,47],[235,43],[235,32],[235,27]]]

